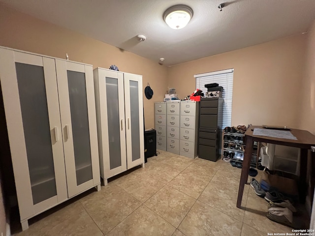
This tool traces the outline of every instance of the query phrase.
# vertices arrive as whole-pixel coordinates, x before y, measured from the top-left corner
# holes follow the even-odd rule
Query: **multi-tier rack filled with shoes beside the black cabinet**
[[[230,132],[226,132],[226,130]],[[243,133],[238,132],[237,130],[224,129],[222,131],[222,150],[221,157],[225,161],[236,161],[242,163],[244,160],[245,153],[245,144],[243,143]],[[252,153],[252,161],[251,166],[257,168],[260,161],[259,160],[259,143],[254,142],[253,144],[253,153]],[[258,157],[258,158],[257,158]]]

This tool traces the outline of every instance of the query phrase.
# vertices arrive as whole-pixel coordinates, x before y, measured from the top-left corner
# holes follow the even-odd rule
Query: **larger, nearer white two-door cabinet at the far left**
[[[91,65],[0,47],[0,80],[22,229],[100,189]]]

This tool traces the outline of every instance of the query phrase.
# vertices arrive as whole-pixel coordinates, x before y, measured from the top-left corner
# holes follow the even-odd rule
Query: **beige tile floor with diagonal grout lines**
[[[266,236],[292,229],[266,217],[267,202],[245,186],[236,207],[241,169],[165,151],[145,168],[109,179],[29,220],[16,236]],[[255,177],[260,180],[260,173]],[[17,219],[18,220],[18,219]],[[307,222],[305,222],[307,225]]]

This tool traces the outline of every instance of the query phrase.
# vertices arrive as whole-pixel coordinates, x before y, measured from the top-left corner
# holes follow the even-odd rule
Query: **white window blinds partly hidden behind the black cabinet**
[[[232,116],[232,95],[233,95],[233,71],[234,69],[215,71],[204,74],[194,75],[196,78],[196,89],[208,91],[205,85],[217,83],[223,87],[223,123],[222,129],[226,126],[231,126]]]

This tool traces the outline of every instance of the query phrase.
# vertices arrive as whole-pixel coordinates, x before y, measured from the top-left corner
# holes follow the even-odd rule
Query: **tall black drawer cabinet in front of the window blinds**
[[[198,145],[200,158],[217,161],[221,156],[222,105],[222,98],[200,99]]]

